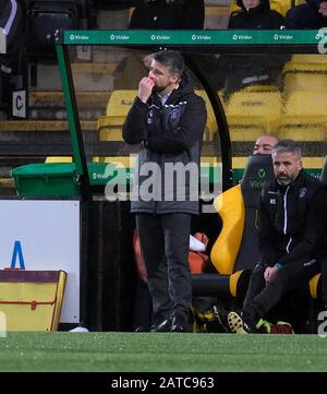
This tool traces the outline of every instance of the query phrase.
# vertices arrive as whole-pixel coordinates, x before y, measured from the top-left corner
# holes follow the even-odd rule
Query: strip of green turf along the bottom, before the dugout
[[[0,371],[327,371],[318,335],[9,333]]]

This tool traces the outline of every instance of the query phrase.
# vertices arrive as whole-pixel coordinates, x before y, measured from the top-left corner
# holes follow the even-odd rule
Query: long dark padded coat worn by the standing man
[[[142,143],[133,180],[132,212],[198,213],[194,196],[198,193],[205,124],[205,103],[195,95],[186,74],[165,106],[156,93],[146,104],[135,98],[123,124],[123,139],[130,144]],[[173,166],[187,166],[191,176],[186,174],[185,180],[175,178],[171,174]],[[146,191],[153,193],[149,199]]]

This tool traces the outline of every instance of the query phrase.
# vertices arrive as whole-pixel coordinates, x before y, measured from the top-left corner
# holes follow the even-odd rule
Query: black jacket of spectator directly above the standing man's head
[[[144,29],[202,29],[204,27],[204,0],[138,1],[133,11],[130,28]]]

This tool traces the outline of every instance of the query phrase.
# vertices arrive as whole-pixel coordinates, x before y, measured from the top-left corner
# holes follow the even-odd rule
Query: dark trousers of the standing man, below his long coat
[[[154,322],[186,318],[192,305],[189,246],[192,215],[136,214],[136,226],[153,299]]]

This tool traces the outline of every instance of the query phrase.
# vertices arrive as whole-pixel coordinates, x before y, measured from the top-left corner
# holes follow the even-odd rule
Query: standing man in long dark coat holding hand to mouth
[[[189,239],[198,214],[205,124],[205,103],[194,94],[182,56],[155,53],[123,126],[123,139],[141,143],[131,200],[153,299],[152,331],[187,331]]]

